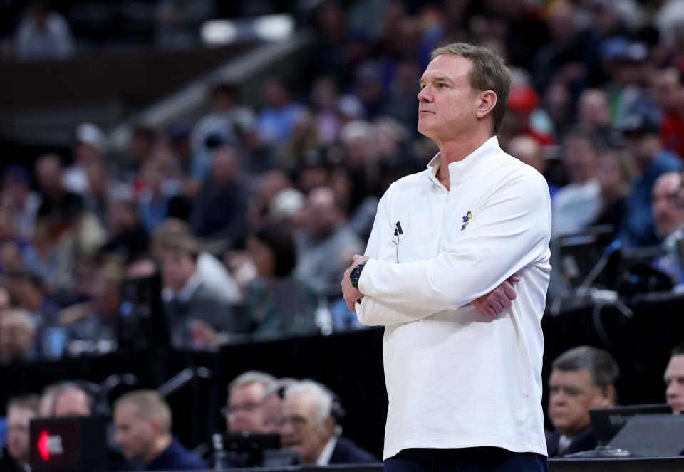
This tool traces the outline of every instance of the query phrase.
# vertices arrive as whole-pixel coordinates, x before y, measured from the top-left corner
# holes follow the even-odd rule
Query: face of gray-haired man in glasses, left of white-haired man
[[[264,429],[264,409],[261,399],[264,397],[264,386],[256,382],[235,387],[228,396],[228,414],[226,424],[228,431],[238,433],[249,431],[260,433]]]

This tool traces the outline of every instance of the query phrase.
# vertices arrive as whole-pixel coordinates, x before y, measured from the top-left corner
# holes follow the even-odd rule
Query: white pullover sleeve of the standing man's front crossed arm
[[[378,206],[373,231],[382,217]],[[544,179],[528,172],[512,172],[489,192],[465,233],[445,252],[410,263],[372,258],[363,268],[358,288],[366,295],[366,302],[367,298],[375,299],[368,305],[423,310],[405,313],[405,317],[425,318],[429,310],[467,305],[545,256],[550,234],[551,203]],[[373,235],[368,243],[369,249],[379,250],[378,254],[387,245],[386,241],[375,241]],[[369,251],[368,255],[373,257],[373,253]],[[364,307],[363,301],[361,305],[362,323],[370,320],[375,324],[389,318],[375,307],[373,315],[367,315],[366,308],[371,311],[371,306]]]

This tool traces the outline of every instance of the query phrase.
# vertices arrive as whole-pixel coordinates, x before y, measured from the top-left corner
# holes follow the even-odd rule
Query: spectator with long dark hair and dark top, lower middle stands
[[[296,244],[286,224],[266,224],[247,239],[247,255],[257,277],[245,301],[258,335],[292,335],[316,330],[318,298],[293,276]]]

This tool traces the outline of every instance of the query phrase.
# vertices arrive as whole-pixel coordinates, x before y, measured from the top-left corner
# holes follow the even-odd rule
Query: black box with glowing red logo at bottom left
[[[31,420],[31,471],[108,470],[106,426],[99,416]]]

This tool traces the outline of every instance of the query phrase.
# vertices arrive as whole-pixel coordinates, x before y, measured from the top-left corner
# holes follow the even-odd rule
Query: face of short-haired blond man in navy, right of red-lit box
[[[128,459],[145,458],[157,437],[155,424],[140,419],[133,403],[123,403],[115,409],[114,429],[114,439]]]

